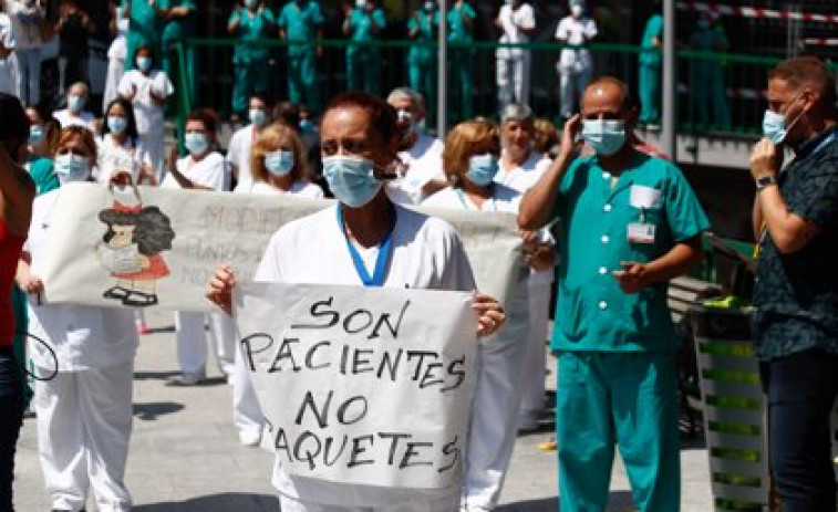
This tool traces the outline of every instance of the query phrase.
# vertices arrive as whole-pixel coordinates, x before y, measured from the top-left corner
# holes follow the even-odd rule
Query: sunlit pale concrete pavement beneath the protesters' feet
[[[170,313],[148,314],[153,334],[143,336],[135,365],[134,435],[126,482],[137,512],[276,512],[270,484],[271,454],[242,447],[231,422],[230,387],[210,363],[210,379],[198,387],[166,386],[177,375]],[[550,367],[552,358],[548,357]],[[554,388],[555,374],[548,375]],[[503,512],[555,512],[556,452],[539,449],[551,435],[520,436],[501,498]],[[712,510],[706,450],[682,450],[682,511]],[[610,511],[635,510],[619,459]],[[19,512],[50,510],[38,460],[34,419],[27,419],[18,445],[15,504]],[[89,506],[89,511],[94,510]]]

